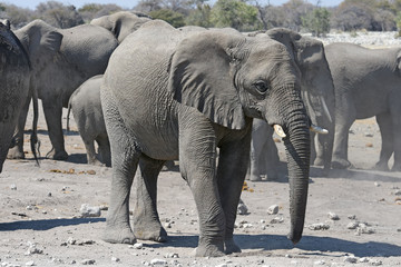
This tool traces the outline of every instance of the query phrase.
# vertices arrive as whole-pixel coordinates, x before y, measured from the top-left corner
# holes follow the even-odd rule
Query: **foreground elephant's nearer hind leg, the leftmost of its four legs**
[[[129,225],[129,195],[138,167],[140,151],[120,119],[111,93],[102,98],[104,115],[111,147],[113,179],[106,229],[102,239],[108,243],[136,243]]]

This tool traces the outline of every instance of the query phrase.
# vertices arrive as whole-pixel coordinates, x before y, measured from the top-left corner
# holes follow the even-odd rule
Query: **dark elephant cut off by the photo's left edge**
[[[0,172],[23,101],[29,93],[29,59],[18,38],[0,22]]]

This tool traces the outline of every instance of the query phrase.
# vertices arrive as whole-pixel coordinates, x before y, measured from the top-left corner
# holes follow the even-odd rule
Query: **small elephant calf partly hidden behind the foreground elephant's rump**
[[[102,75],[95,76],[85,81],[71,95],[68,103],[67,129],[69,128],[69,113],[72,110],[79,135],[87,150],[88,164],[110,167],[110,142],[100,102],[101,80]],[[98,144],[99,159],[97,158],[95,141]]]

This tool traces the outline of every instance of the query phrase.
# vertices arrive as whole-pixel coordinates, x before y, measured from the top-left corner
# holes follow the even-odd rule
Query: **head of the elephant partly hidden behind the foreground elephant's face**
[[[323,43],[285,28],[274,28],[266,34],[283,43],[301,71],[303,100],[312,123],[329,130],[320,137],[323,144],[323,164],[330,168],[334,138],[334,85],[324,53]]]

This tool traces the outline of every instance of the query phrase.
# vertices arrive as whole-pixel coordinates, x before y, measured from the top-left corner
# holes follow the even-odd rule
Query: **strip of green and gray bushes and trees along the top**
[[[163,19],[175,27],[232,27],[241,31],[286,27],[295,31],[325,34],[341,31],[399,30],[401,33],[401,0],[343,0],[338,7],[322,8],[306,0],[288,0],[282,6],[262,4],[258,0],[140,0],[131,11]],[[111,1],[110,1],[111,2]],[[42,19],[59,28],[88,23],[94,18],[123,10],[117,4],[88,3],[76,9],[58,1],[43,1],[35,10],[0,3],[0,18],[9,19],[13,28]]]

